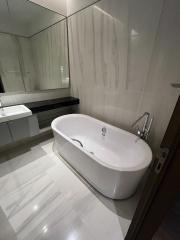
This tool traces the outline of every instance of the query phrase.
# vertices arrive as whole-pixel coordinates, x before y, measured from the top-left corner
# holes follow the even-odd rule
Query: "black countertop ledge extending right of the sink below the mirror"
[[[56,98],[44,101],[37,101],[37,102],[29,102],[25,103],[24,105],[28,107],[32,113],[39,113],[48,111],[51,109],[67,107],[72,105],[79,104],[79,99],[74,97],[64,97],[64,98]]]

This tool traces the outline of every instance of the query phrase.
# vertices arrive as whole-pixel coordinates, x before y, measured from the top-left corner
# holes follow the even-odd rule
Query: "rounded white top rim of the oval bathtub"
[[[147,149],[149,150],[149,154],[150,154],[150,160],[147,160],[147,162],[145,161],[144,163],[141,163],[141,164],[138,164],[134,167],[121,167],[121,166],[113,166],[111,164],[108,164],[104,161],[102,161],[101,159],[97,158],[95,155],[92,155],[90,154],[87,150],[85,150],[84,148],[78,146],[77,144],[75,144],[75,142],[70,138],[68,137],[67,135],[65,135],[64,133],[62,133],[59,129],[57,129],[56,127],[56,123],[59,122],[60,120],[62,119],[66,119],[66,118],[69,118],[69,117],[72,117],[72,116],[83,116],[85,118],[90,118],[91,120],[95,121],[95,122],[99,122],[101,124],[106,124],[106,126],[110,127],[110,128],[115,128],[116,130],[118,131],[122,131],[122,132],[125,132],[126,134],[128,135],[131,135],[131,136],[135,136],[135,137],[138,137],[136,136],[135,134],[133,133],[130,133],[124,129],[121,129],[121,128],[118,128],[116,126],[113,126],[109,123],[106,123],[106,122],[103,122],[99,119],[96,119],[96,118],[93,118],[89,115],[85,115],[85,114],[67,114],[67,115],[63,115],[63,116],[60,116],[56,119],[54,119],[51,123],[51,128],[53,131],[55,131],[58,135],[60,135],[61,137],[63,137],[64,139],[66,139],[66,141],[70,142],[74,147],[78,148],[80,151],[82,151],[84,154],[86,154],[88,157],[90,157],[94,162],[96,163],[99,163],[100,165],[102,165],[103,167],[106,167],[108,169],[111,169],[111,170],[114,170],[114,171],[121,171],[121,172],[138,172],[138,171],[141,171],[143,169],[147,169],[151,163],[152,163],[152,160],[153,160],[153,154],[152,154],[152,150],[150,148],[150,146],[142,139],[139,139],[139,141],[141,141],[146,147]]]

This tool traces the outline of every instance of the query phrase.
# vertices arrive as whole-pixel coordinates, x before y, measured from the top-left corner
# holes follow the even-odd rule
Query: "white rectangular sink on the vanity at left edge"
[[[24,105],[4,107],[0,109],[0,123],[31,116],[32,112]]]

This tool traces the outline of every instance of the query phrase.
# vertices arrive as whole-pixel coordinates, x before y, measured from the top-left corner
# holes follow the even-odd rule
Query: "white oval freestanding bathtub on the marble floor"
[[[112,199],[130,197],[152,161],[150,147],[136,135],[86,115],[58,117],[52,129],[56,152]]]

